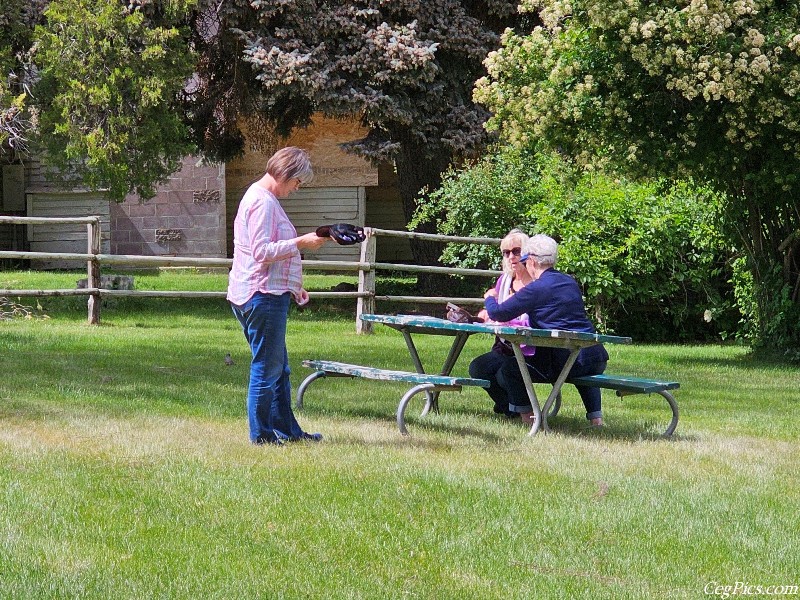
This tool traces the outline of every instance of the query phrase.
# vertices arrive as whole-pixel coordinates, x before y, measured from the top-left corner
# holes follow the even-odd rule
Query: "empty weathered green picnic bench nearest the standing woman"
[[[303,366],[314,369],[314,372],[306,377],[297,388],[297,400],[295,406],[303,408],[303,396],[308,386],[320,377],[360,377],[362,379],[373,379],[376,381],[394,381],[412,383],[413,387],[408,390],[400,399],[397,405],[397,427],[400,433],[408,435],[406,429],[405,414],[411,399],[421,392],[439,392],[445,390],[461,391],[462,386],[489,387],[489,382],[485,379],[471,379],[469,377],[453,377],[451,375],[433,375],[428,373],[412,373],[410,371],[392,371],[389,369],[376,369],[363,365],[351,365],[348,363],[334,362],[329,360],[304,360]],[[425,403],[425,408],[421,416],[428,414],[432,406],[431,396]]]

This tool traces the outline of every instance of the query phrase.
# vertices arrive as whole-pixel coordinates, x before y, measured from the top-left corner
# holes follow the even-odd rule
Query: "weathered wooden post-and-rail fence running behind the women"
[[[156,290],[116,290],[100,287],[101,265],[122,265],[127,267],[201,267],[201,268],[227,268],[230,269],[233,261],[229,258],[202,258],[190,256],[140,256],[130,254],[103,254],[100,252],[100,217],[11,217],[0,216],[0,223],[14,223],[25,225],[43,224],[85,224],[87,226],[87,252],[27,252],[20,250],[2,250],[0,259],[19,260],[66,260],[86,263],[87,287],[77,289],[51,289],[51,290],[13,290],[0,289],[0,297],[41,297],[41,296],[88,296],[89,323],[100,322],[100,299],[103,296],[129,296],[140,298],[225,298],[226,292],[208,291],[156,291]],[[409,231],[395,231],[391,229],[378,229],[366,227],[367,239],[361,243],[361,256],[358,261],[337,260],[303,260],[304,270],[357,272],[358,290],[343,292],[309,292],[311,298],[355,298],[356,328],[360,333],[371,331],[371,323],[363,323],[359,318],[363,313],[373,313],[376,301],[415,303],[415,304],[441,304],[454,302],[465,305],[482,305],[483,298],[457,298],[447,296],[392,296],[378,294],[375,291],[376,271],[399,271],[408,273],[439,273],[444,275],[470,276],[470,277],[497,277],[500,271],[485,269],[460,269],[445,266],[409,265],[401,263],[377,262],[378,237],[402,237],[408,239],[425,239],[444,243],[498,245],[499,238],[469,238],[446,236],[430,233]]]

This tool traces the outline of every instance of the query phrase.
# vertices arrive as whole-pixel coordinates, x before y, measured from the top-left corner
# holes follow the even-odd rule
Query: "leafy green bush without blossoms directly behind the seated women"
[[[726,338],[737,329],[720,198],[692,182],[633,184],[578,174],[556,156],[514,149],[445,177],[415,222],[444,212],[443,233],[502,237],[512,227],[560,243],[598,327],[638,339]],[[498,267],[496,248],[453,244],[442,260]]]

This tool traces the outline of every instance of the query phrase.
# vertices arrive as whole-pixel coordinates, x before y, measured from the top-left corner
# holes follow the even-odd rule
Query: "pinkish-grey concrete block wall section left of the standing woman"
[[[111,203],[111,253],[225,257],[225,167],[187,157],[155,198]]]

